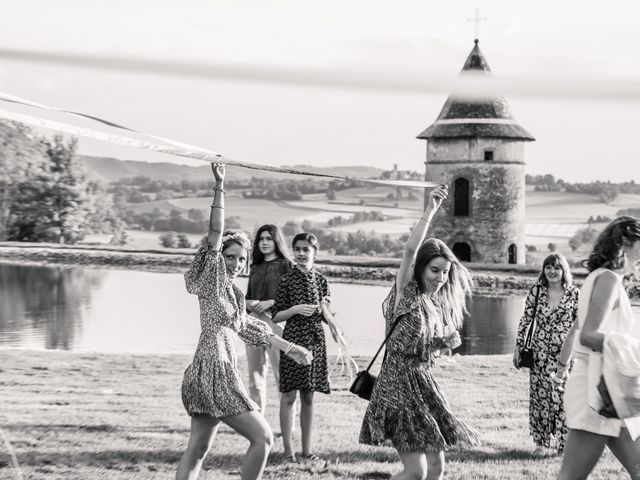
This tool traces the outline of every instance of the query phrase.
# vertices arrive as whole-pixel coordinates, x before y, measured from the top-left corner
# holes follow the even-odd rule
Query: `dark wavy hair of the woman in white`
[[[590,272],[597,268],[620,270],[625,263],[625,241],[634,243],[639,240],[640,220],[628,215],[618,217],[600,233],[591,255],[583,264]]]

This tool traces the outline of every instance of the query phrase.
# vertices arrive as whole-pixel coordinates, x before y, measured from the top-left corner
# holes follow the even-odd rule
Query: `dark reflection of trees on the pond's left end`
[[[0,265],[0,333],[40,331],[45,348],[72,348],[104,275],[81,268]]]

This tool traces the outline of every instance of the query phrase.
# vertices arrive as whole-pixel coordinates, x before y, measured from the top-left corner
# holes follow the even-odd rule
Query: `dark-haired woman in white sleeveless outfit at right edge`
[[[573,369],[564,393],[569,435],[559,480],[586,479],[606,446],[632,479],[640,479],[640,417],[616,418],[591,407],[599,397],[602,352],[613,333],[640,339],[622,278],[637,274],[640,220],[623,216],[602,231],[586,261],[591,272],[582,284]],[[595,384],[594,384],[595,383]],[[595,395],[593,395],[595,393]]]

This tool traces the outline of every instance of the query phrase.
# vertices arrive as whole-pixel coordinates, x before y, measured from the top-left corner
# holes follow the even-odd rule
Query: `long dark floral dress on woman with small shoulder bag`
[[[533,368],[529,370],[529,432],[537,446],[562,451],[568,434],[562,401],[566,381],[556,385],[551,374],[556,370],[562,344],[578,316],[580,291],[574,285],[567,286],[560,303],[551,307],[547,287],[540,282],[531,287],[518,326],[516,344],[520,348],[525,344],[527,328],[533,320],[538,292],[537,325],[531,340]]]

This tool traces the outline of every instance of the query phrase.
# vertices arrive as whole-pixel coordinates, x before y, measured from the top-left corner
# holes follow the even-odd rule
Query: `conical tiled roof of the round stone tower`
[[[491,69],[480,51],[478,40],[460,72],[461,78],[491,76]],[[513,138],[535,140],[511,115],[509,104],[501,95],[470,98],[459,92],[449,95],[433,125],[418,138]]]

